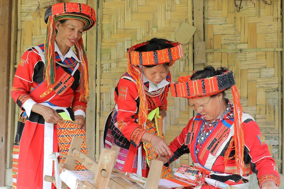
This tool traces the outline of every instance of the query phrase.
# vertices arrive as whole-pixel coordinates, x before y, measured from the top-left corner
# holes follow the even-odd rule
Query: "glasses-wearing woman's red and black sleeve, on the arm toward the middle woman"
[[[188,128],[192,125],[192,121],[193,118],[191,118],[187,126],[183,128],[180,135],[175,137],[175,139],[170,143],[169,148],[173,151],[173,156],[169,160],[170,163],[178,159],[183,154],[189,154],[189,148],[184,144],[184,141],[188,133]]]

